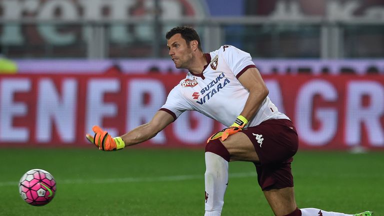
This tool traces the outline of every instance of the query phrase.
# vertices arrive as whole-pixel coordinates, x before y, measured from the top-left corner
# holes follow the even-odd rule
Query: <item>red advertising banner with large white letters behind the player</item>
[[[112,136],[148,122],[184,74],[0,76],[0,146],[86,146],[100,125]],[[384,76],[263,75],[269,97],[296,126],[301,149],[384,149]],[[153,147],[203,147],[223,127],[188,111]]]

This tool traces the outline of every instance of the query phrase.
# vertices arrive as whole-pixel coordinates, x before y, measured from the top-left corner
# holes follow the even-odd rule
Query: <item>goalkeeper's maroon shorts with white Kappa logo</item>
[[[269,119],[241,130],[253,143],[259,162],[254,162],[262,190],[293,186],[290,163],[298,148],[295,127],[288,119]]]

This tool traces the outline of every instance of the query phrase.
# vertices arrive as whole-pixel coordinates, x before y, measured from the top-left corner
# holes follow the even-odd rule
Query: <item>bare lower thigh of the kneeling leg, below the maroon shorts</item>
[[[297,207],[294,200],[293,187],[263,191],[274,215],[282,216],[294,211]]]

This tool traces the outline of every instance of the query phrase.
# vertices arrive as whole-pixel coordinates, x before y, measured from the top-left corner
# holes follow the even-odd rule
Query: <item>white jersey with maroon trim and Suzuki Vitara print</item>
[[[256,66],[249,53],[230,45],[205,53],[205,58],[209,63],[202,73],[188,72],[169,92],[160,110],[167,111],[174,119],[185,110],[195,110],[230,126],[243,110],[249,95],[237,78],[246,69]],[[289,119],[266,97],[246,126],[255,126],[271,118]]]

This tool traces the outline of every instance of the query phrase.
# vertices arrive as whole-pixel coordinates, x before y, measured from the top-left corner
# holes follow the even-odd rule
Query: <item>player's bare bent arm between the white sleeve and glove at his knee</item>
[[[238,81],[249,90],[248,99],[240,115],[251,119],[258,111],[260,104],[268,95],[269,90],[257,68],[251,67],[238,77]]]

